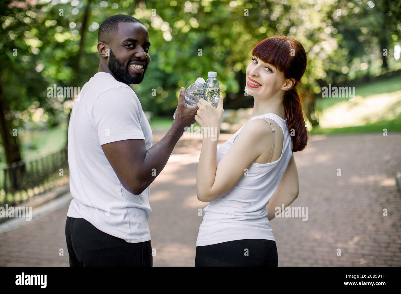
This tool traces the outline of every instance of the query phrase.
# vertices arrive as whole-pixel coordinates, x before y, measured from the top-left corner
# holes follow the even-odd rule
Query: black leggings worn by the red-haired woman
[[[195,266],[278,266],[277,246],[265,239],[197,246]]]

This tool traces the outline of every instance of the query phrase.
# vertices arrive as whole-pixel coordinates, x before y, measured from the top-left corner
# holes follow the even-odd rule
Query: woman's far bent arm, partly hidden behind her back
[[[298,197],[298,192],[298,171],[293,154],[277,191],[274,193],[273,197],[271,197],[266,206],[268,211],[267,218],[271,220],[275,217],[275,208],[277,206],[280,207],[280,211],[282,209],[282,204],[284,204],[284,208],[290,206],[290,204]]]

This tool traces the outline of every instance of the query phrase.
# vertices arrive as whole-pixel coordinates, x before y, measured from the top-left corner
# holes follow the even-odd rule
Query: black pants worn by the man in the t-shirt
[[[152,266],[150,240],[128,243],[83,218],[67,216],[65,238],[70,266]]]

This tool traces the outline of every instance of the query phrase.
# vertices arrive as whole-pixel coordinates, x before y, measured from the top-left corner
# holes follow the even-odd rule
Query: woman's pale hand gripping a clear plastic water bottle
[[[212,104],[205,101],[205,99],[199,99],[198,110],[196,111],[195,120],[201,127],[217,127],[220,130],[221,120],[223,120],[223,98],[220,97],[217,108],[213,107]]]

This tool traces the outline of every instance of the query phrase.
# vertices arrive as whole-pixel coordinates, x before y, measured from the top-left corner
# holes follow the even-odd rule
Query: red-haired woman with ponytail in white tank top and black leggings
[[[245,90],[255,100],[251,117],[219,148],[216,138],[203,138],[196,186],[198,200],[208,205],[195,266],[277,266],[269,220],[275,207],[288,206],[298,196],[292,153],[308,140],[296,90],[306,53],[297,40],[280,36],[259,42],[252,56]],[[219,134],[222,100],[217,108],[203,99],[197,105],[196,122]]]

